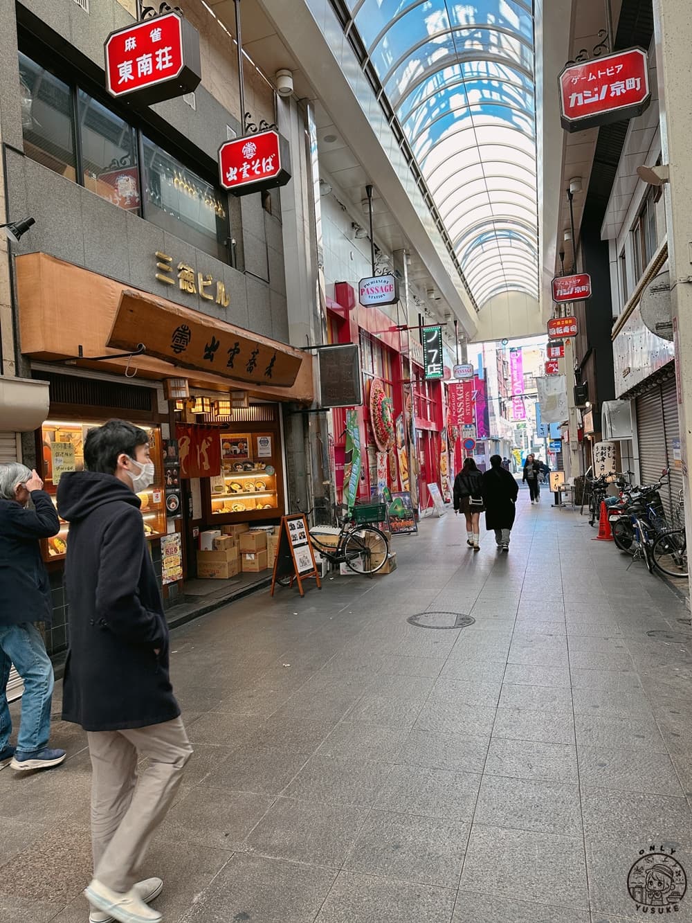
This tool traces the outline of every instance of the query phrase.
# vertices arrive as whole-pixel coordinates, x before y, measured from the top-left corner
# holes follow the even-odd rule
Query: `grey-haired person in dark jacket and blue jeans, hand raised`
[[[34,509],[27,509],[31,500]],[[51,769],[65,760],[64,749],[48,746],[54,675],[37,622],[50,624],[51,587],[39,540],[58,533],[60,522],[43,482],[26,465],[0,465],[0,769]],[[7,680],[14,664],[24,680],[17,748],[11,747],[12,720]]]

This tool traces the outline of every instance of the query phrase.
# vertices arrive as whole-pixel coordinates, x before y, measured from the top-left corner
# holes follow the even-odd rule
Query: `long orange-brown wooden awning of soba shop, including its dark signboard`
[[[279,401],[314,400],[312,357],[44,253],[17,258],[22,354]],[[146,352],[119,358],[143,342]],[[42,421],[41,421],[42,422]],[[11,427],[10,427],[11,428]]]

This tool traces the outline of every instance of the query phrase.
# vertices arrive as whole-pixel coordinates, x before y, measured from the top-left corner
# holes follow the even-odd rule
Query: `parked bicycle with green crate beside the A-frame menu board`
[[[304,515],[310,517],[315,508]],[[355,506],[353,509],[341,507],[336,509],[339,531],[329,533],[324,526],[314,526],[310,531],[310,543],[330,564],[345,564],[356,573],[371,576],[387,563],[389,542],[375,522],[387,520],[387,506],[384,503],[372,503]],[[303,512],[302,509],[298,510]],[[336,534],[336,545],[327,544],[326,536]],[[322,535],[322,539],[320,539]],[[290,575],[277,578],[281,586],[288,586],[292,581]]]

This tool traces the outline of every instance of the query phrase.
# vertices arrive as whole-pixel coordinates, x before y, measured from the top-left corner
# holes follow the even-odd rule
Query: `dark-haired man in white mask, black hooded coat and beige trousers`
[[[90,923],[158,923],[160,878],[137,881],[192,754],[169,678],[161,593],[140,500],[154,465],[143,429],[111,420],[84,440],[85,471],[64,474],[69,521],[69,651],[63,719],[87,731],[94,877]],[[147,758],[146,769],[137,763]]]

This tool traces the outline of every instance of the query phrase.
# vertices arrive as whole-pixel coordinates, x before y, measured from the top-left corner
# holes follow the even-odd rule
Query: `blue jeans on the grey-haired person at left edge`
[[[31,622],[0,625],[0,751],[9,743],[12,719],[7,706],[10,661],[24,680],[17,752],[43,749],[51,733],[53,664],[45,651],[41,632]]]

